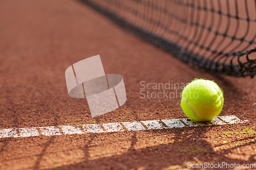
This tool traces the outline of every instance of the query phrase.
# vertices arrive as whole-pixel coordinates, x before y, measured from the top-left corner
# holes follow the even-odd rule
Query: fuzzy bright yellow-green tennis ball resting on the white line
[[[223,91],[214,82],[195,79],[188,83],[181,94],[181,108],[192,120],[209,121],[219,115],[223,107]]]

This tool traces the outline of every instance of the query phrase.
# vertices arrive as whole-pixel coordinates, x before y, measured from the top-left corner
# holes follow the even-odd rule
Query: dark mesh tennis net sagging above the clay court
[[[81,0],[185,63],[256,74],[255,0]]]

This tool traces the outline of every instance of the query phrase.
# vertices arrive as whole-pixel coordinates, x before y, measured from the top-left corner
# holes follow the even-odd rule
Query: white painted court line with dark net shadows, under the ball
[[[50,126],[50,127],[34,127],[34,128],[14,128],[0,129],[0,138],[7,137],[30,137],[30,136],[51,136],[51,135],[68,135],[68,134],[84,134],[84,133],[103,133],[103,132],[119,132],[119,131],[140,131],[148,129],[166,129],[166,128],[182,128],[197,126],[214,126],[227,124],[240,124],[248,122],[241,120],[237,116],[218,116],[210,122],[200,123],[193,120],[167,119],[167,120],[147,120],[141,122],[119,122],[109,124],[88,124],[82,126]],[[102,128],[103,127],[103,128]],[[125,129],[123,128],[125,127]],[[146,128],[145,128],[146,127]],[[62,130],[62,132],[60,131]],[[39,131],[38,131],[39,130]],[[83,131],[82,131],[83,130]]]

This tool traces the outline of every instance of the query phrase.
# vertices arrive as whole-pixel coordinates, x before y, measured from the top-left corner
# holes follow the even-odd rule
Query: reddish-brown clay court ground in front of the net
[[[79,1],[1,1],[0,22],[0,129],[186,118],[180,96],[141,99],[140,82],[185,84],[194,78],[214,80],[223,89],[220,116],[249,120],[220,126],[0,138],[0,169],[256,164],[255,78],[211,75],[189,67]],[[68,95],[65,70],[98,54],[106,74],[123,77],[127,101],[92,118],[85,99]]]

